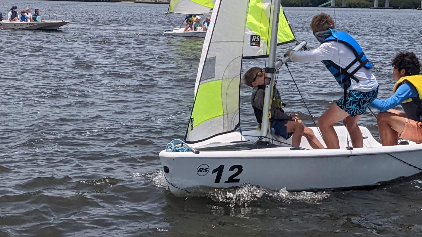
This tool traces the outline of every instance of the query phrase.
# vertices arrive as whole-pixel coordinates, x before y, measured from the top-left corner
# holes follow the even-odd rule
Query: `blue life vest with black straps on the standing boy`
[[[338,82],[340,86],[343,87],[344,90],[349,88],[351,81],[350,79],[353,79],[356,82],[359,82],[357,78],[354,77],[354,74],[361,69],[362,67],[365,67],[367,69],[371,69],[372,65],[369,62],[368,58],[363,53],[362,48],[360,48],[359,43],[354,40],[352,36],[347,34],[344,31],[337,31],[333,32],[333,35],[326,38],[322,43],[329,42],[329,41],[338,41],[339,43],[343,43],[344,45],[348,46],[354,53],[355,59],[346,67],[340,67],[339,65],[335,64],[331,60],[324,60],[322,63],[325,64],[325,67],[330,71],[331,74],[333,74],[335,80]],[[360,62],[360,65],[357,66],[351,73],[347,72],[347,70],[350,69],[356,62]]]

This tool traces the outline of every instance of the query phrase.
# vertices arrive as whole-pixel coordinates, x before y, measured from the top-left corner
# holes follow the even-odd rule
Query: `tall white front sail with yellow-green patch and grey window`
[[[232,132],[239,125],[242,26],[247,6],[247,0],[216,1],[203,44],[186,142]]]

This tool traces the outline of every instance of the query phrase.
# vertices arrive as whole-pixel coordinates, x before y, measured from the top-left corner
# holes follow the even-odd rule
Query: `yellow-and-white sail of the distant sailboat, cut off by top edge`
[[[178,14],[210,14],[215,0],[170,0],[168,13]]]

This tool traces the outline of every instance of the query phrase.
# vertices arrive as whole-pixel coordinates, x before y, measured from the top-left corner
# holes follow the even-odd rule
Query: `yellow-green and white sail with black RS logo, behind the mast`
[[[273,18],[271,12],[274,7],[272,2],[271,0],[250,0],[245,27],[243,58],[268,57]],[[283,8],[280,8],[277,44],[290,43],[295,40],[295,35],[284,15]]]

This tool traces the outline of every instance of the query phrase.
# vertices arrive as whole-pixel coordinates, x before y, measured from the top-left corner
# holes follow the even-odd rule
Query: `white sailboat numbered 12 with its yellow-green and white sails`
[[[227,21],[236,27],[227,28]],[[266,73],[271,80],[265,85],[262,116],[268,118],[276,75],[268,72],[274,68],[276,73],[289,61],[287,57],[276,60],[276,46],[295,37],[280,0],[217,0],[209,32],[184,139],[190,148],[179,145],[176,151],[187,151],[174,152],[170,146],[159,155],[176,196],[243,183],[288,191],[372,186],[422,171],[422,144],[382,147],[365,127],[360,127],[364,147],[354,149],[346,149],[344,127],[335,127],[341,148],[322,150],[313,150],[304,137],[303,150],[291,149],[285,145],[291,144],[291,138],[271,134],[268,119],[263,119],[261,130],[241,132],[242,59],[269,57]],[[304,41],[294,50],[305,45]],[[317,127],[312,129],[323,143]],[[258,139],[272,145],[256,145]]]

